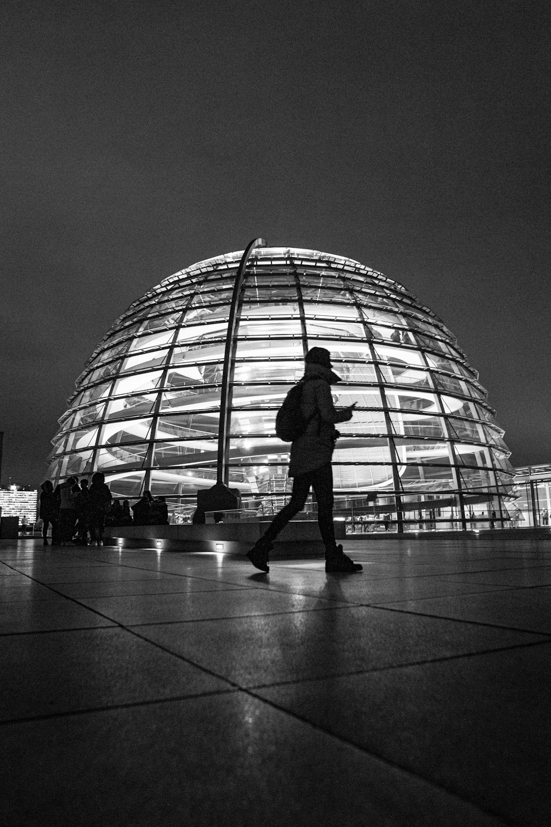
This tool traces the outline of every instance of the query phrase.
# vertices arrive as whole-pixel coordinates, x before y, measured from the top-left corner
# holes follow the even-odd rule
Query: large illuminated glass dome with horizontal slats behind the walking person
[[[273,513],[292,482],[276,412],[319,345],[342,377],[335,404],[357,404],[333,457],[337,509],[399,530],[502,525],[510,452],[453,334],[357,261],[263,244],[181,270],[116,320],[59,419],[50,478],[103,471],[113,495],[167,497],[173,520],[218,480]]]

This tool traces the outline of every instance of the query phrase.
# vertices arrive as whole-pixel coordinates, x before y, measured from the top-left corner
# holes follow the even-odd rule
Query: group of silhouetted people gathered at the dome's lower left
[[[51,527],[52,546],[103,545],[103,530],[106,526],[124,525],[168,525],[169,509],[164,497],[152,497],[145,491],[135,505],[128,500],[112,500],[112,494],[105,483],[102,471],[88,480],[69,476],[54,488],[50,480],[41,485],[40,519],[44,545],[48,545],[48,530]],[[132,517],[131,510],[134,513]]]

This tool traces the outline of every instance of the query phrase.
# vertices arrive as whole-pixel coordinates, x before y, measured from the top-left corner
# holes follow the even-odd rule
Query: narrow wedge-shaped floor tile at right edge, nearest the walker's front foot
[[[381,605],[433,617],[551,634],[551,587],[507,589],[482,595],[458,595]]]

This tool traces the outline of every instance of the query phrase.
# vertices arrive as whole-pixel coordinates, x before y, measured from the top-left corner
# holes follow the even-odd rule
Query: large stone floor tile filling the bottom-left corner
[[[2,735],[11,827],[500,823],[240,692],[12,724]]]

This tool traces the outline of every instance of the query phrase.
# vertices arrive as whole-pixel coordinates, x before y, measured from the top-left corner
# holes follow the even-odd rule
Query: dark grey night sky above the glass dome
[[[254,237],[400,281],[551,461],[549,3],[2,4],[2,484],[97,342]]]

